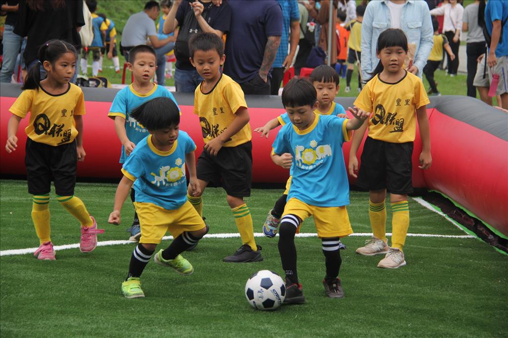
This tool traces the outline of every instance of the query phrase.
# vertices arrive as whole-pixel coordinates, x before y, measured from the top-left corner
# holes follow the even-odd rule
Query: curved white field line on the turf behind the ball
[[[391,233],[387,233],[387,236],[391,236]],[[278,236],[278,234],[277,234]],[[356,233],[350,236],[355,237],[371,237],[371,233]],[[407,234],[408,237],[441,237],[441,238],[474,238],[474,236],[469,235],[435,235],[435,234]],[[205,238],[237,238],[240,237],[239,234],[208,234],[205,235]],[[264,237],[263,233],[255,233],[254,237]],[[296,237],[317,237],[317,234],[305,233],[305,234],[297,234]],[[165,236],[163,240],[173,239],[173,236]],[[103,241],[97,242],[97,246],[109,246],[109,245],[120,245],[120,244],[133,244],[135,242],[131,241]],[[79,243],[76,244],[65,244],[65,245],[57,245],[54,246],[53,249],[55,251],[58,250],[68,250],[68,249],[77,249],[79,248]],[[13,249],[13,250],[3,250],[0,251],[0,256],[12,256],[12,255],[24,255],[27,253],[34,253],[37,248],[26,248],[26,249]]]

